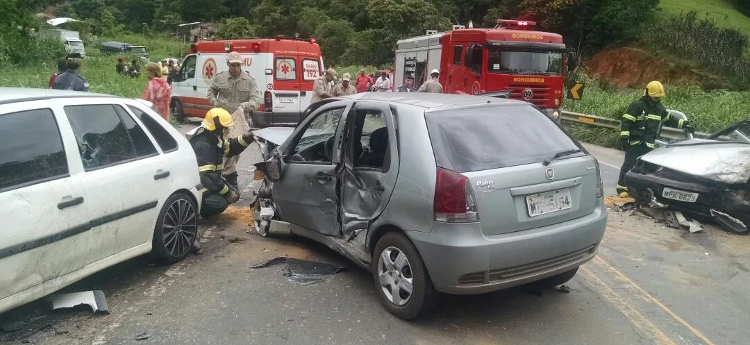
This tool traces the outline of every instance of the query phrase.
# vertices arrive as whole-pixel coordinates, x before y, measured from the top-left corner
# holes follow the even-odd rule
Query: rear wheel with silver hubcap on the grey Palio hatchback
[[[387,264],[384,261],[386,257],[389,260]],[[401,264],[399,268],[398,263],[405,265]],[[436,293],[422,257],[403,234],[386,233],[381,237],[375,246],[372,265],[378,295],[391,314],[403,320],[413,320],[423,317],[434,305]],[[411,284],[410,294],[404,290],[404,283]],[[398,297],[395,297],[395,293],[398,293]]]

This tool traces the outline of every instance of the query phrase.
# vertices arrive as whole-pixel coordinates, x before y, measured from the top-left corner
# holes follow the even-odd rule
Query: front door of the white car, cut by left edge
[[[82,269],[89,257],[92,215],[71,176],[77,148],[52,103],[0,106],[0,311],[43,296],[27,289]]]

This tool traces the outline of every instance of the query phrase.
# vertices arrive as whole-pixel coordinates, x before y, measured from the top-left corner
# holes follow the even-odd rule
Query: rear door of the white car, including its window
[[[124,104],[107,98],[59,100],[79,148],[86,183],[80,191],[100,216],[92,224],[96,254],[90,262],[123,251],[145,253],[172,173],[150,135]]]

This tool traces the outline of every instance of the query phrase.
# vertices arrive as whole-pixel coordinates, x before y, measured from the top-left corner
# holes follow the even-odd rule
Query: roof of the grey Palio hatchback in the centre
[[[531,105],[527,102],[507,98],[479,95],[434,94],[427,92],[362,92],[341,98],[350,98],[355,101],[384,101],[389,103],[408,104],[426,109],[472,106],[487,103],[497,105]]]

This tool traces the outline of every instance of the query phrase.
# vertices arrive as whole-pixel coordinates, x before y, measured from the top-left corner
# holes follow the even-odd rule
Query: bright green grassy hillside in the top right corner
[[[666,14],[694,10],[701,17],[715,20],[719,26],[737,28],[750,36],[750,17],[736,10],[728,0],[661,0],[659,7]]]

